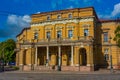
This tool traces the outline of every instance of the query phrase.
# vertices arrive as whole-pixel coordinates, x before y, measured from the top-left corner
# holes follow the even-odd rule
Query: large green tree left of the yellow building
[[[0,43],[0,57],[4,58],[5,63],[15,61],[15,48],[16,45],[13,39],[8,39]]]

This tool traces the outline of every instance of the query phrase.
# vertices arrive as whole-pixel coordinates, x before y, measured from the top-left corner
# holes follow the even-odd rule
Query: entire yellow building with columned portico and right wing
[[[114,30],[120,20],[99,20],[93,7],[31,15],[17,35],[20,70],[94,71],[120,67]],[[112,58],[111,58],[112,56]]]

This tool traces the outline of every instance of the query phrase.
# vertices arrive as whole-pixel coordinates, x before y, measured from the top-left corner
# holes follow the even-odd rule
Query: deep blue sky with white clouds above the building
[[[120,17],[120,0],[1,0],[0,42],[16,40],[16,35],[30,26],[32,14],[91,6],[100,19]]]

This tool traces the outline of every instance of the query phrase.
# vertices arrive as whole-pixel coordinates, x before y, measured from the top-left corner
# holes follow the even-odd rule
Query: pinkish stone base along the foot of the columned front
[[[21,67],[21,70],[24,71],[58,71],[58,66],[33,66],[31,65],[24,65]],[[94,71],[93,66],[61,66],[61,71]]]

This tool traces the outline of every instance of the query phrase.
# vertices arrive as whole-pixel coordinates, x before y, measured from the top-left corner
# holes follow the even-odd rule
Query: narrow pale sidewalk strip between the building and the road
[[[4,73],[40,73],[40,74],[119,74],[120,71],[113,73],[110,70],[92,71],[92,72],[79,72],[79,71],[5,71]]]

